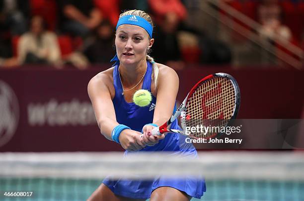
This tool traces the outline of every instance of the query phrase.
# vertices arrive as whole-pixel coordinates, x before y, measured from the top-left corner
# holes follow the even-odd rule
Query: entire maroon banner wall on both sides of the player
[[[14,70],[1,69],[0,152],[122,151],[119,144],[107,140],[100,134],[87,95],[89,80],[107,68],[109,66],[83,71],[54,70],[40,66]],[[217,72],[226,72],[236,79],[241,91],[241,105],[237,117],[252,118],[252,121],[239,122],[242,124],[240,135],[244,137],[241,144],[193,143],[197,148],[281,149],[302,147],[302,144],[290,142],[289,138],[288,140],[284,138],[281,146],[278,141],[273,146],[270,145],[269,141],[279,139],[276,136],[281,136],[281,134],[274,134],[279,131],[279,128],[275,130],[274,127],[271,127],[273,131],[266,128],[269,128],[267,126],[272,123],[277,126],[285,125],[280,123],[280,120],[275,122],[274,119],[286,122],[287,118],[301,118],[304,100],[304,71],[187,68],[177,72],[180,79],[177,102],[185,98],[197,81]],[[154,108],[154,104],[149,105],[150,112],[153,112]],[[259,127],[259,125],[265,126]],[[298,124],[294,124],[294,126],[296,125]],[[292,127],[294,128],[294,126]],[[291,129],[286,133],[286,136],[289,137]],[[296,133],[299,136],[299,132]],[[238,135],[231,134],[228,137],[232,136]],[[300,137],[302,136],[300,135]],[[294,140],[296,137],[294,136],[292,139]],[[258,142],[260,142],[260,146],[258,146]]]

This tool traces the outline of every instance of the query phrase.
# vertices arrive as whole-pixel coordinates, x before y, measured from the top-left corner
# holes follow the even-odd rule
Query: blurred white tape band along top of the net
[[[168,153],[0,153],[0,177],[149,179],[204,176],[206,179],[304,180],[302,152],[201,152],[197,159]]]

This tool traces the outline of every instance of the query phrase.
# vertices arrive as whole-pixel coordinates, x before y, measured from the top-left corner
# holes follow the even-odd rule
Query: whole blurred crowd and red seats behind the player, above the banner
[[[151,56],[156,62],[175,69],[182,69],[185,63],[230,63],[227,44],[209,40],[185,22],[191,12],[186,1],[199,4],[199,0],[0,0],[0,66],[44,64],[85,69],[109,63],[115,55],[119,14],[129,9],[152,15],[155,42]],[[283,40],[299,46],[303,43],[304,1],[226,1],[260,22],[263,37],[274,40],[274,33],[278,33]],[[212,56],[204,57],[211,50]]]

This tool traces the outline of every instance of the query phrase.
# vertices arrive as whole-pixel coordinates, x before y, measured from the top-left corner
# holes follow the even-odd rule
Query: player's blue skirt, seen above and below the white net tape
[[[141,151],[173,151],[176,154],[196,158],[197,152],[194,146],[192,144],[185,143],[185,138],[186,137],[183,135],[170,133],[165,137],[166,142],[161,142],[160,140],[155,146],[146,147]],[[128,155],[128,152],[126,152],[125,155]],[[172,187],[197,199],[200,199],[204,192],[206,192],[205,179],[193,176],[183,177],[182,179],[160,176],[153,180],[111,180],[111,178],[108,177],[104,179],[102,183],[115,195],[132,199],[149,199],[152,191],[159,187]]]

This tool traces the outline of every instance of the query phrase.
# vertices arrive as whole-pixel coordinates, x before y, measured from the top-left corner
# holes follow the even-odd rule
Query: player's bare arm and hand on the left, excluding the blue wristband
[[[119,123],[116,120],[115,109],[111,99],[109,86],[111,81],[108,75],[98,74],[88,84],[87,91],[92,102],[96,120],[100,132],[109,140],[112,140],[112,130]],[[136,151],[145,147],[139,132],[125,129],[119,136],[121,146],[130,151]]]

